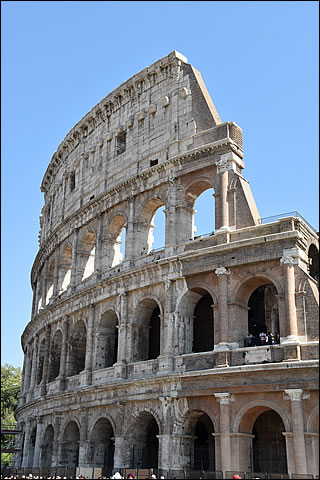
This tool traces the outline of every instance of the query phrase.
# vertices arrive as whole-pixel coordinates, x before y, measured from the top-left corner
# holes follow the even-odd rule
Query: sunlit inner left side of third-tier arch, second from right
[[[161,198],[161,195],[157,194],[146,199],[137,212],[135,241],[137,252],[141,255],[147,254],[152,250],[154,242],[153,230],[155,228],[154,217],[157,210],[163,206],[165,206],[165,200]]]

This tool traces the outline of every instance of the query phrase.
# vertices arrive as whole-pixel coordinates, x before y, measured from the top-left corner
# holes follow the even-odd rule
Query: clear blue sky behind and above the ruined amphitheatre
[[[22,366],[40,184],[69,130],[173,50],[200,70],[222,121],[243,129],[261,217],[318,229],[318,2],[1,2],[1,363]],[[205,232],[203,232],[205,233]]]

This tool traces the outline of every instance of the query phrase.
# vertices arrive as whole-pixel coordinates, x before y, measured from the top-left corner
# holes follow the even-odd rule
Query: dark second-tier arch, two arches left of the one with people
[[[154,296],[139,301],[135,309],[136,331],[133,359],[149,360],[160,355],[163,309]]]

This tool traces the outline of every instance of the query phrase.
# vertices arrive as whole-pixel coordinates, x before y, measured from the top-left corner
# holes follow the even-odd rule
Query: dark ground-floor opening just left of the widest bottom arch
[[[215,470],[214,428],[209,416],[204,413],[198,417],[194,429],[193,469]]]

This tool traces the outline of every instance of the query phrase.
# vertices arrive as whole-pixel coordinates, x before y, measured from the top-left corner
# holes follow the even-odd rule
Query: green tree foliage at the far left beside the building
[[[20,387],[21,368],[8,363],[1,365],[1,423],[15,423],[14,411],[17,408]]]

